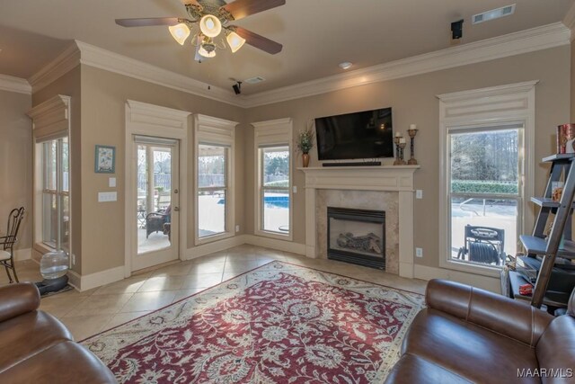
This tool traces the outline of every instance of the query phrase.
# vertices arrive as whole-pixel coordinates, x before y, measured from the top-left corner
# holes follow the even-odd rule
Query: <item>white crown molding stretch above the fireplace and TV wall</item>
[[[555,22],[526,31],[509,33],[496,38],[441,49],[411,58],[403,58],[341,75],[323,77],[260,94],[244,96],[243,101],[247,107],[280,103],[358,85],[421,75],[495,58],[506,58],[535,50],[559,47],[569,44],[570,37],[571,31],[562,22]]]

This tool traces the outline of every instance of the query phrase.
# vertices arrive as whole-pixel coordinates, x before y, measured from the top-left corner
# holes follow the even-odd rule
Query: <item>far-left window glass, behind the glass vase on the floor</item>
[[[38,146],[42,170],[41,241],[69,252],[68,139],[52,139]]]

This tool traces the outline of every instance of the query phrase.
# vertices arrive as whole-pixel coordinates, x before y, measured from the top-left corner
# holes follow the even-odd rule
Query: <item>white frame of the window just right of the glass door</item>
[[[235,179],[234,147],[236,121],[227,121],[202,114],[194,115],[194,240],[196,246],[235,236]],[[200,145],[215,145],[227,148],[226,161],[226,231],[208,237],[199,237],[199,183],[198,155]],[[222,188],[218,188],[222,189]]]

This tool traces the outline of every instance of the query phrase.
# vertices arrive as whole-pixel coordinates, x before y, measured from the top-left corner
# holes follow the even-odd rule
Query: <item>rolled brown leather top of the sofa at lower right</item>
[[[530,346],[537,344],[553,319],[525,301],[509,299],[455,281],[429,281],[425,299],[429,308]]]

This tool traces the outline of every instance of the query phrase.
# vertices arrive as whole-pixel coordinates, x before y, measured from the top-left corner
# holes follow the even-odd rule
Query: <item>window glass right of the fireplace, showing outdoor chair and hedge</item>
[[[453,128],[447,138],[450,258],[501,267],[522,222],[523,124]]]

